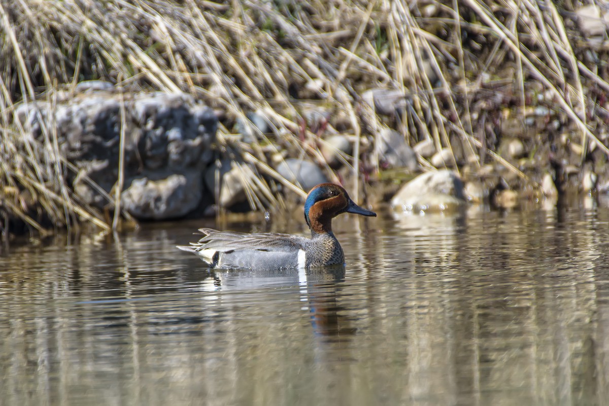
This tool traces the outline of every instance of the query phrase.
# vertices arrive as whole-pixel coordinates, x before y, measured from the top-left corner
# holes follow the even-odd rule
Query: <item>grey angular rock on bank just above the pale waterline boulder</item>
[[[384,168],[418,169],[417,154],[406,143],[402,134],[389,128],[379,131],[375,142],[375,155],[378,164]]]

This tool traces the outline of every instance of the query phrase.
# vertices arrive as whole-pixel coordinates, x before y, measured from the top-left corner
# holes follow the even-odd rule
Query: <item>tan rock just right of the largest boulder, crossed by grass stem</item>
[[[247,179],[243,176],[237,165],[233,165],[230,159],[220,162],[220,166],[210,165],[205,172],[205,184],[211,193],[216,194],[216,171],[219,170],[220,196],[216,203],[224,208],[231,208],[233,205],[247,201],[245,187],[242,180]]]

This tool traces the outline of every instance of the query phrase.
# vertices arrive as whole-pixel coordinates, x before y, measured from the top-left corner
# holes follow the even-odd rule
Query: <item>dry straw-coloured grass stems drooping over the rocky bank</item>
[[[69,193],[65,173],[74,168],[58,153],[54,128],[45,128],[44,140],[35,142],[14,117],[15,103],[52,102],[58,86],[73,88],[90,79],[189,92],[234,119],[262,109],[282,134],[278,139],[259,134],[263,143],[322,162],[317,134],[302,125],[303,100],[289,97],[290,89],[317,83],[319,90],[309,92],[312,102],[336,115],[346,112],[350,126],[329,125],[326,132],[356,136],[349,162],[356,180],[365,145],[360,140],[374,139],[387,125],[411,145],[429,138],[437,148],[452,150],[458,141],[471,162],[480,165],[490,156],[527,179],[493,151],[484,129],[476,132],[481,130],[473,118],[474,110],[481,115],[501,108],[491,103],[484,111],[476,101],[488,98],[488,77],[497,80],[513,61],[516,81],[502,91],[515,94],[523,122],[527,84],[537,81],[576,125],[573,136],[583,145],[582,157],[590,142],[609,154],[594,131],[598,123],[589,120],[604,106],[588,94],[609,89],[607,69],[596,69],[585,58],[586,52],[606,56],[607,49],[574,29],[570,7],[572,2],[533,0],[0,3],[2,206],[40,231],[47,228],[42,218],[55,226],[85,220],[110,227],[102,213]],[[376,87],[407,95],[407,110],[395,124],[361,103],[362,92]],[[219,139],[228,142],[228,133],[221,126]],[[258,146],[241,147],[258,171],[303,193],[281,179]],[[242,173],[253,207],[277,203],[272,187],[245,167]],[[32,216],[35,209],[24,191],[44,216]],[[356,186],[355,198],[357,193]]]

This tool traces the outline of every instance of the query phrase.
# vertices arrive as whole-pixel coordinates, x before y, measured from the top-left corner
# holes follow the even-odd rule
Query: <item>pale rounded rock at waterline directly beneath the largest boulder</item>
[[[161,179],[136,177],[121,194],[122,206],[138,219],[183,217],[199,205],[202,182],[198,171],[168,174]]]

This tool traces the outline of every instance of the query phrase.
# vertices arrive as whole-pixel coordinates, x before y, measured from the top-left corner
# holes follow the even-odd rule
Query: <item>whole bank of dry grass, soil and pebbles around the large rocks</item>
[[[16,119],[19,103],[53,104],[85,80],[190,94],[217,112],[219,151],[274,177],[277,156],[308,156],[356,199],[358,179],[401,179],[371,158],[387,129],[432,146],[417,155],[423,170],[489,189],[537,190],[548,173],[559,191],[581,189],[593,173],[583,188],[602,190],[607,21],[604,2],[582,1],[0,2],[4,222],[111,226],[71,193],[53,129],[32,140]],[[235,137],[254,111],[272,136]],[[340,170],[323,153],[336,134],[353,147]]]

